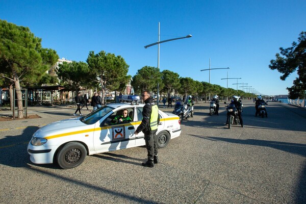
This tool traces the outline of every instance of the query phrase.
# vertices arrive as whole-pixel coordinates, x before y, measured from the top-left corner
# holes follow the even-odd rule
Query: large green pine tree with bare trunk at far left
[[[41,47],[41,39],[34,36],[29,28],[17,26],[0,20],[0,65],[2,78],[8,81],[6,86],[14,83],[17,90],[18,118],[23,117],[22,86],[34,85],[57,60],[55,50]]]

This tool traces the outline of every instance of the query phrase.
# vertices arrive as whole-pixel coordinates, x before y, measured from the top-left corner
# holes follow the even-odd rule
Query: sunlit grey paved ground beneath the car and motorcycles
[[[27,143],[75,109],[29,107],[41,118],[0,122],[0,203],[306,203],[306,110],[270,102],[260,118],[252,101],[243,103],[245,127],[232,129],[223,104],[219,116],[195,104],[154,168],[141,166],[146,149],[134,147],[67,170],[31,163]]]

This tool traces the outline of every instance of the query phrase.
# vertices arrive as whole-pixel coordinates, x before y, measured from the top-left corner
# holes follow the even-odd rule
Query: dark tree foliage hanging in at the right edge
[[[283,73],[281,80],[286,80],[289,74],[297,70],[298,78],[293,81],[294,85],[287,89],[291,99],[303,97],[306,90],[306,32],[299,34],[298,42],[293,42],[292,47],[279,49],[281,53],[277,53],[276,59],[270,61],[269,68]]]

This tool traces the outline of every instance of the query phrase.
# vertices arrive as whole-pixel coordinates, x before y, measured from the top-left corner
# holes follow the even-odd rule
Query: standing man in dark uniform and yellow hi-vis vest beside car
[[[150,98],[149,91],[144,91],[141,95],[145,105],[142,109],[142,121],[134,132],[135,135],[141,131],[144,133],[145,146],[148,151],[148,160],[142,163],[145,167],[154,167],[158,163],[158,148],[156,132],[159,123],[158,107]]]

